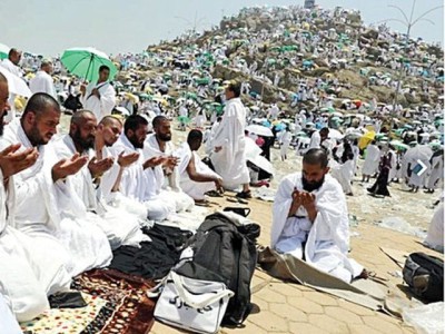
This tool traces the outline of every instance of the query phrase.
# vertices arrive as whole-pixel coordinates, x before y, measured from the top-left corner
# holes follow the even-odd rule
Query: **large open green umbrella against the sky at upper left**
[[[95,82],[99,78],[99,68],[106,65],[110,69],[110,80],[117,73],[116,66],[108,56],[95,48],[72,48],[63,51],[60,58],[67,70],[80,78]]]

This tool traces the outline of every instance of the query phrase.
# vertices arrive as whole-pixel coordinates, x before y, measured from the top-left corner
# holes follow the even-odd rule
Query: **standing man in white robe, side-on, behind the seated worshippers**
[[[240,85],[226,88],[226,108],[221,122],[211,138],[214,151],[210,155],[215,171],[222,177],[225,188],[235,189],[243,185],[237,196],[251,198],[249,169],[246,161],[246,108],[239,98]]]

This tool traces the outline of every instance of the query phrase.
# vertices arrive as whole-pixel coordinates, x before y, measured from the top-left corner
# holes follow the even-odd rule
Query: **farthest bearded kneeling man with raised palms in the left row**
[[[174,200],[176,212],[189,212],[194,207],[194,199],[185,194],[179,186],[177,165],[179,159],[171,143],[171,125],[165,116],[157,116],[152,120],[155,134],[147,137],[144,144],[146,159],[162,157],[164,164],[152,168],[155,174],[155,191],[166,202]]]

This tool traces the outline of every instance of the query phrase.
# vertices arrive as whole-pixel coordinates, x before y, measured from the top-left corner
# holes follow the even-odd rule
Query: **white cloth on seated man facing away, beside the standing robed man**
[[[198,174],[206,175],[209,177],[220,177],[220,176],[218,176],[218,174],[216,174],[206,164],[204,164],[196,151],[191,151],[188,143],[184,143],[179,147],[179,149],[177,150],[177,155],[180,159],[178,166],[178,173],[180,177],[179,185],[182,191],[189,195],[194,199],[197,200],[205,199],[204,194],[216,189],[215,183],[212,181],[197,183],[191,180],[187,173],[187,166],[189,165],[191,159],[194,159],[195,168]]]

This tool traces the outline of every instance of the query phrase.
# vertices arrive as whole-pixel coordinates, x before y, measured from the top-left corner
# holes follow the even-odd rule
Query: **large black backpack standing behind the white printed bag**
[[[250,281],[257,262],[257,224],[235,226],[221,214],[207,216],[188,246],[194,258],[176,269],[197,279],[222,282],[235,295],[230,298],[224,325],[240,325],[251,311]]]

